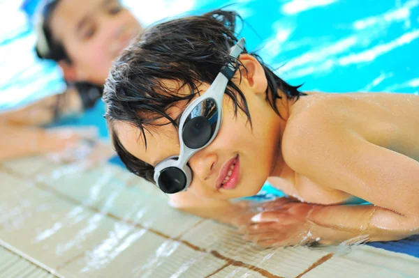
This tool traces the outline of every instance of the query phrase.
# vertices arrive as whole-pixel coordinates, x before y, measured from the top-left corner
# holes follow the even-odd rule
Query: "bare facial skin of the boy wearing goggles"
[[[252,61],[252,63],[255,62]],[[249,67],[249,75],[251,75],[251,70],[252,67]],[[283,131],[283,127],[279,116],[274,113],[265,100],[266,86],[260,85],[257,78],[255,75],[251,79],[244,76],[240,84],[247,99],[253,129],[242,111],[239,111],[235,117],[233,102],[225,96],[219,133],[209,146],[198,151],[189,160],[193,171],[193,180],[188,191],[193,194],[214,199],[252,196],[260,190],[270,175],[279,151],[279,134]],[[266,84],[264,74],[263,78],[265,79],[264,84]],[[175,82],[165,83],[171,88],[179,88]],[[201,93],[205,93],[209,86],[209,84],[203,84],[198,88]],[[179,94],[189,94],[189,92],[187,88],[181,88]],[[176,107],[168,110],[168,114],[172,118],[177,118],[186,106],[186,101],[177,102]],[[167,123],[167,120],[156,121],[156,124],[159,123]],[[146,132],[147,150],[138,128],[127,123],[117,122],[115,132],[129,153],[154,167],[156,162],[179,155],[178,131],[171,124],[156,126],[150,129],[151,133]],[[237,165],[240,167],[238,182],[235,183],[233,189],[217,189],[216,183],[217,180],[220,180],[221,169],[226,164],[228,165],[228,162],[234,160],[237,155],[239,163],[236,163],[235,167]]]

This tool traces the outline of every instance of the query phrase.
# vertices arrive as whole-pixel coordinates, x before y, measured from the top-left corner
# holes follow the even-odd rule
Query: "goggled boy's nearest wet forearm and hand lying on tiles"
[[[390,241],[419,233],[417,217],[405,217],[374,205],[287,203],[275,210],[242,217],[235,224],[241,226],[244,238],[267,247]]]

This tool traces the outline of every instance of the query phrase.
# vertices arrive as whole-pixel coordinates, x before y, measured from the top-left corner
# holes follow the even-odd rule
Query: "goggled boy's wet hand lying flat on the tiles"
[[[256,207],[255,207],[256,208]],[[249,212],[234,221],[244,239],[263,247],[304,245],[318,241],[311,234],[313,225],[307,222],[312,205],[279,198],[259,203],[258,213]]]

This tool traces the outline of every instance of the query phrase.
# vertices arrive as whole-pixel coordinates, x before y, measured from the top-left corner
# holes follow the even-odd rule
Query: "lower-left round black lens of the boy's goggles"
[[[161,191],[168,194],[181,192],[186,187],[186,176],[181,169],[176,167],[163,169],[159,176],[159,187]]]

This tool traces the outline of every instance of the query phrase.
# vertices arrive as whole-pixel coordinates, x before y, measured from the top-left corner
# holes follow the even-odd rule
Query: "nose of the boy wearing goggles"
[[[205,153],[202,150],[199,151],[189,160],[193,176],[199,180],[208,180],[215,173],[214,166],[216,165],[217,160],[218,157],[215,153]]]

